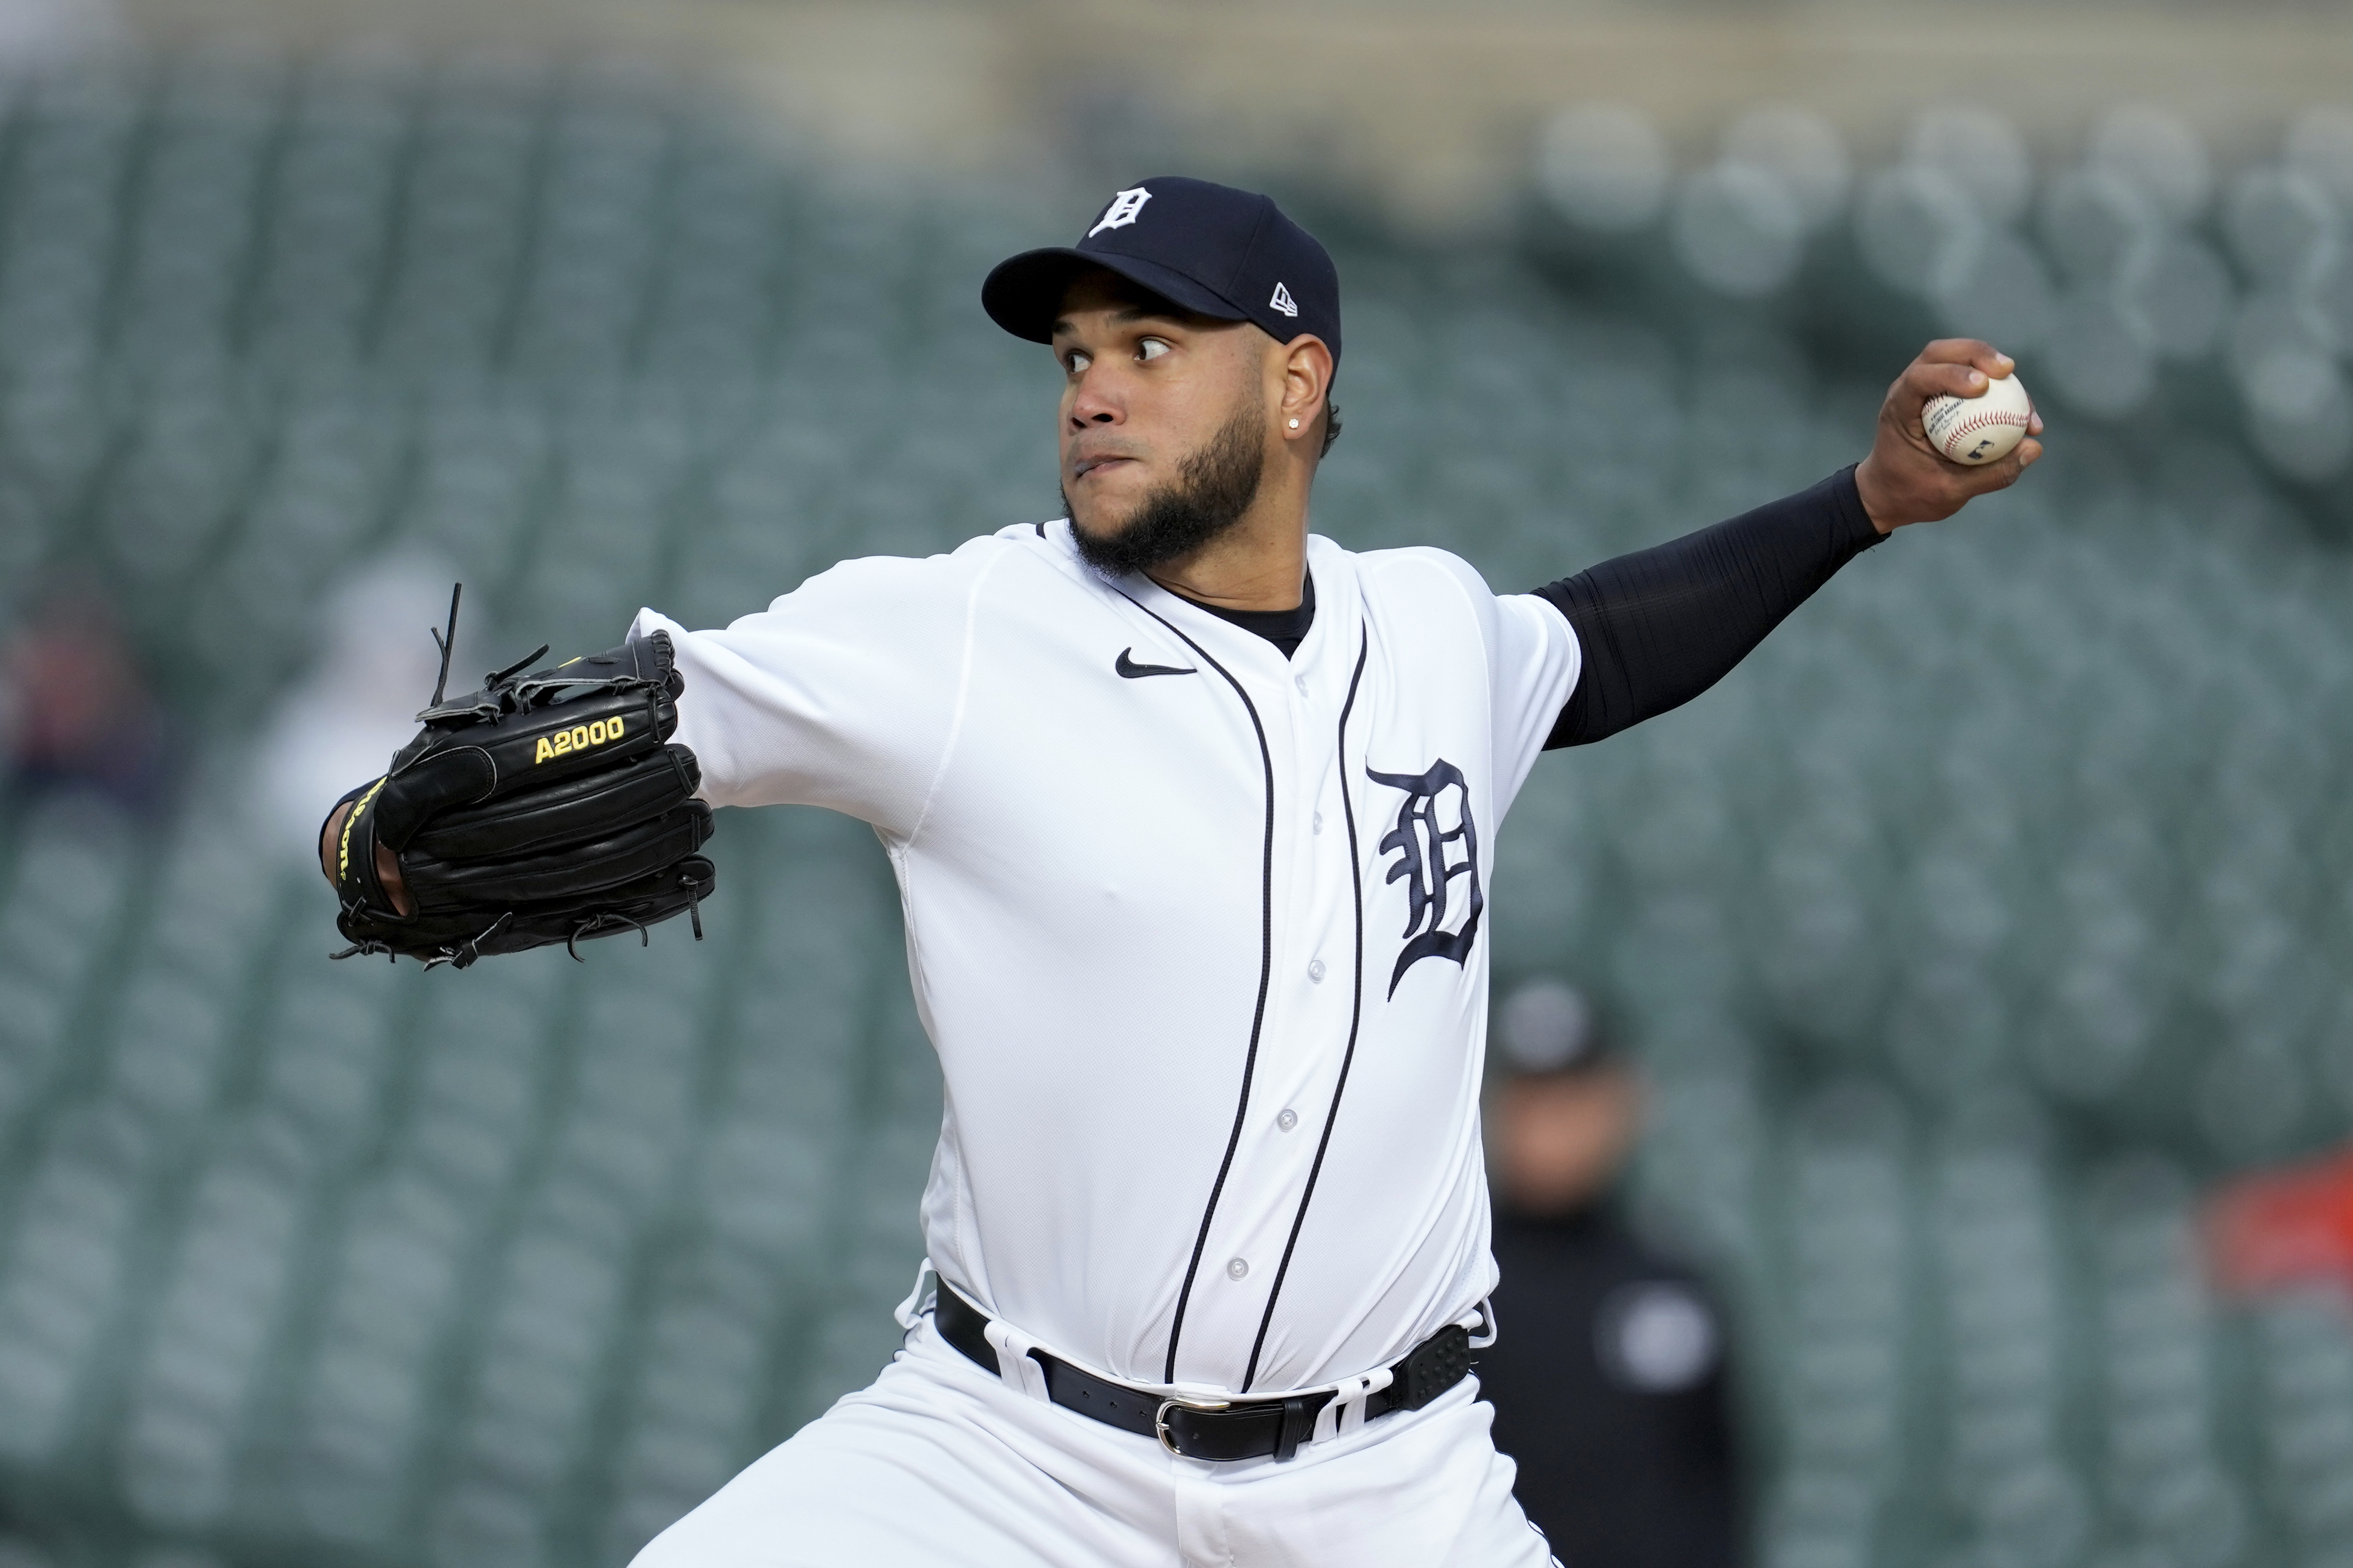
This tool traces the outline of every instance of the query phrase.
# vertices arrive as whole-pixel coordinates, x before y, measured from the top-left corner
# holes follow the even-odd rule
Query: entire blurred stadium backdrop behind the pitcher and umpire
[[[454,576],[471,677],[1052,515],[979,280],[1172,169],[1339,256],[1315,527],[1499,588],[2019,357],[2024,487],[1537,769],[1499,992],[1647,1084],[1755,1561],[2353,1563],[2341,1192],[2200,1253],[2353,1126],[2346,7],[0,0],[0,1568],[616,1568],[875,1373],[871,835],[433,976],[304,858]]]

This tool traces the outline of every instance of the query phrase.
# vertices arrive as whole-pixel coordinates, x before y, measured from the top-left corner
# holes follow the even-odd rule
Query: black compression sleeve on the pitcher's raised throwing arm
[[[1584,654],[1546,750],[1689,703],[1880,538],[1854,470],[1840,468],[1814,489],[1539,588]]]

